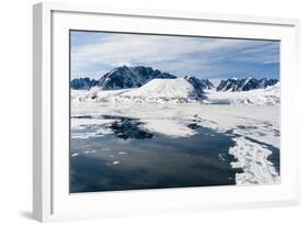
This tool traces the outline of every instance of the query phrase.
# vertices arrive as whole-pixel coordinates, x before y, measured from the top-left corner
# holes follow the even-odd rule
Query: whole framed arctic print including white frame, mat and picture
[[[297,204],[298,24],[34,5],[34,218]]]

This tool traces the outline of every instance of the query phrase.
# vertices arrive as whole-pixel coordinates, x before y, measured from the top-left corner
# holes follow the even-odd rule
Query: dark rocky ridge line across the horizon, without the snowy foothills
[[[176,79],[178,77],[169,72],[162,72],[152,67],[145,66],[119,66],[104,74],[100,79],[77,78],[70,81],[70,88],[75,90],[89,90],[93,87],[101,90],[121,90],[140,88],[152,79]],[[248,77],[244,79],[230,78],[221,80],[215,88],[208,79],[198,79],[194,76],[185,76],[187,82],[194,88],[199,98],[204,95],[205,90],[216,91],[249,91],[254,89],[265,89],[278,82],[277,79],[262,78],[256,79]]]

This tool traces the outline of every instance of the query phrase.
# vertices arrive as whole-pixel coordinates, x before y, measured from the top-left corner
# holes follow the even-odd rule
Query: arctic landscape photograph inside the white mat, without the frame
[[[280,40],[70,30],[67,50],[69,193],[281,183]]]

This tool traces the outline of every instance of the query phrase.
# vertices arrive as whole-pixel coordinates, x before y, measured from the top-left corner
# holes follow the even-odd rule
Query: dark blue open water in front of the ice
[[[236,172],[241,170],[230,167],[236,160],[228,154],[235,145],[230,134],[189,124],[197,134],[171,138],[141,131],[139,125],[138,120],[119,117],[109,127],[113,134],[72,138],[70,192],[236,183]]]

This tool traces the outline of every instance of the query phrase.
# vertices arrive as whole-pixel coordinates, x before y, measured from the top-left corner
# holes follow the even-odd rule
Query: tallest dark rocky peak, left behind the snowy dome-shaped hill
[[[102,76],[98,81],[98,87],[104,90],[118,90],[127,88],[139,88],[152,79],[175,79],[174,75],[161,72],[151,67],[121,66]]]

